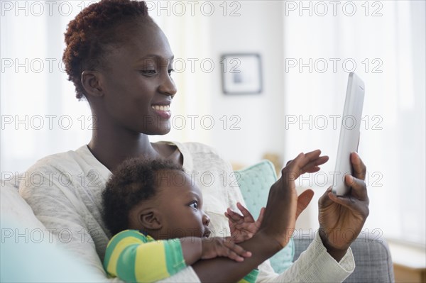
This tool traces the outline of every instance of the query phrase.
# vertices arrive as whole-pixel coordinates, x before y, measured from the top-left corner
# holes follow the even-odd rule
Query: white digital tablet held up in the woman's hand
[[[358,151],[364,91],[362,79],[351,72],[346,89],[339,148],[337,149],[336,167],[333,175],[332,192],[338,196],[348,194],[351,189],[344,184],[344,176],[351,174],[351,152]]]

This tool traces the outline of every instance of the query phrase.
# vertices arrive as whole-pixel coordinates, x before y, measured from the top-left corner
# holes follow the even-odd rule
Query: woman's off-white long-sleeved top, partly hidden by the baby
[[[229,162],[201,143],[173,143],[183,156],[185,172],[202,190],[203,209],[209,215],[212,235],[229,235],[224,211],[244,204]],[[44,157],[21,178],[19,192],[35,216],[53,233],[54,240],[76,260],[107,279],[102,267],[109,233],[102,223],[102,190],[111,172],[87,145],[75,151]],[[340,262],[333,259],[315,234],[312,244],[283,274],[276,274],[269,261],[259,265],[258,282],[342,282],[354,271],[351,249]],[[110,279],[119,281],[119,279]],[[187,267],[164,282],[200,282]]]

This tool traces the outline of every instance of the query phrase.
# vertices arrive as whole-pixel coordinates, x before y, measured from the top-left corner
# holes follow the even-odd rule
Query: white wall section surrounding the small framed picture
[[[220,2],[217,2],[217,5]],[[283,13],[282,1],[239,1],[241,16],[214,13],[210,18],[212,58],[226,53],[258,52],[262,58],[261,94],[225,95],[219,69],[212,78],[210,112],[238,115],[240,130],[214,127],[211,145],[231,162],[251,165],[265,152],[283,152]],[[236,7],[232,7],[236,9]],[[222,121],[217,121],[222,123]]]

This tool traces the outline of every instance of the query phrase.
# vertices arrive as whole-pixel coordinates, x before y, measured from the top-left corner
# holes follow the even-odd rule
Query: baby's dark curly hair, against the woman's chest
[[[102,219],[112,235],[129,228],[129,212],[136,204],[153,198],[160,171],[184,172],[170,160],[133,158],[114,170],[102,192]]]

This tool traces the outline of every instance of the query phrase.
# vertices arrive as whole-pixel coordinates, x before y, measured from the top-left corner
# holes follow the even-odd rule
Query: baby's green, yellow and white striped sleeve
[[[154,240],[136,230],[111,238],[104,258],[107,273],[125,282],[155,282],[185,267],[180,240]]]

